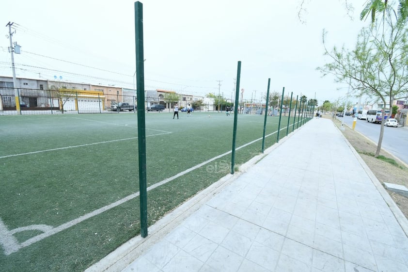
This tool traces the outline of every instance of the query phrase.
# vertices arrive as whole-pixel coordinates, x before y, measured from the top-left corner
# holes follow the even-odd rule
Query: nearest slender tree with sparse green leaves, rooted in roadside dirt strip
[[[317,69],[323,76],[335,76],[335,81],[348,84],[368,96],[379,98],[384,105],[393,105],[395,99],[405,96],[408,85],[408,30],[398,29],[397,16],[391,8],[384,11],[383,24],[376,20],[363,28],[354,50],[344,46],[326,48],[326,32],[323,31],[325,55],[332,60]],[[384,113],[383,113],[384,115]],[[383,122],[384,122],[384,118]],[[376,157],[381,150],[384,127],[380,126]]]

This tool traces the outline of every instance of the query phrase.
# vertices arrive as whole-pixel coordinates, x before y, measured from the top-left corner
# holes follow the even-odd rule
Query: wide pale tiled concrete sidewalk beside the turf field
[[[267,152],[87,271],[408,271],[407,219],[331,120]]]

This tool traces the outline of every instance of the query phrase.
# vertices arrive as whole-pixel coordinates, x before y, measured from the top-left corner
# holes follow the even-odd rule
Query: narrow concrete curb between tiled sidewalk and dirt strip
[[[333,126],[337,128],[337,126],[333,123]],[[348,126],[347,126],[348,127]],[[381,194],[382,198],[384,201],[387,203],[388,207],[391,209],[392,214],[394,215],[395,219],[397,220],[398,224],[401,226],[402,230],[404,231],[405,235],[408,237],[408,220],[405,217],[405,215],[402,213],[400,208],[397,206],[397,204],[392,200],[390,194],[385,190],[385,188],[382,186],[381,182],[377,179],[377,177],[374,175],[374,173],[371,171],[371,169],[368,167],[368,165],[365,163],[365,161],[361,158],[360,154],[356,151],[356,149],[348,142],[348,140],[345,138],[343,133],[340,131],[339,128],[337,128],[342,135],[343,139],[347,143],[348,147],[350,147],[351,151],[353,152],[354,156],[357,158],[357,160],[360,162],[362,168],[364,171],[367,173],[368,177],[370,177],[371,181],[373,182],[374,186],[376,186],[378,192]],[[357,131],[358,132],[358,131]],[[360,132],[359,132],[360,133]],[[368,139],[368,138],[367,138]]]

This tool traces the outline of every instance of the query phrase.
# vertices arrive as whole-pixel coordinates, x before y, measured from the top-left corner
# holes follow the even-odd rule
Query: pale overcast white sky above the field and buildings
[[[282,93],[285,87],[285,94],[293,92],[295,98],[302,94],[316,96],[319,104],[334,101],[347,88],[315,70],[330,61],[323,57],[322,31],[328,31],[329,48],[353,48],[367,25],[359,20],[366,0],[349,0],[354,20],[347,16],[344,0],[306,0],[306,24],[298,19],[301,0],[141,2],[145,89],[183,94],[218,95],[217,80],[222,80],[220,93],[231,98],[241,61],[244,98],[265,96],[270,78],[271,92]],[[12,76],[5,27],[11,21],[19,25],[13,41],[22,50],[15,54],[17,77],[62,76],[63,81],[133,88],[133,0],[3,1],[1,10],[0,75]]]

